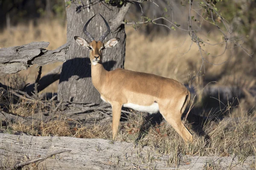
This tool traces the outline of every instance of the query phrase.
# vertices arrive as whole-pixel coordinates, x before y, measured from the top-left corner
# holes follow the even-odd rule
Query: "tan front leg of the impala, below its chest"
[[[122,104],[115,102],[111,104],[111,106],[112,106],[112,112],[113,112],[112,133],[113,133],[113,139],[115,139],[117,136],[118,126],[121,118]]]

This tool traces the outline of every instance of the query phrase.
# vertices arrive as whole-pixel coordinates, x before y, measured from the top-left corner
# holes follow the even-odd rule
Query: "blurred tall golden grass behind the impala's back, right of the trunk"
[[[198,46],[192,43],[189,35],[170,34],[166,37],[147,37],[133,29],[127,29],[127,49],[125,68],[143,71],[163,77],[177,79],[187,83],[188,76],[196,75],[208,82],[218,81],[221,85],[235,85],[238,80],[253,80],[256,71],[253,59],[245,53],[228,44],[223,55],[225,44],[202,44],[205,58],[203,68]],[[215,44],[222,41],[215,33],[201,34],[208,43]],[[236,52],[236,53],[235,53]],[[243,56],[240,56],[240,55]],[[215,57],[217,56],[217,57]],[[241,57],[243,57],[241,59]],[[207,60],[207,61],[206,61]],[[223,64],[221,64],[223,63]]]

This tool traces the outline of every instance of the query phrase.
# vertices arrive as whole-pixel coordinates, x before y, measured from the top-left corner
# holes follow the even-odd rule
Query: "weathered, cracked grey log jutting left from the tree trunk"
[[[65,62],[69,43],[56,50],[47,50],[49,42],[31,42],[26,45],[0,48],[0,76],[17,73],[34,64],[38,66]]]

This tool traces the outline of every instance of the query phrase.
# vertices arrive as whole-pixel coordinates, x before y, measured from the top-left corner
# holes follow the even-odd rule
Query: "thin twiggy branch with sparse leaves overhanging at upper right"
[[[142,3],[146,0],[131,0],[131,1]],[[158,1],[158,2],[160,2],[160,1]],[[154,19],[142,16],[142,19],[138,22],[124,20],[122,22],[122,24],[132,24],[135,29],[137,29],[138,25],[140,25],[140,24],[155,24],[158,26],[163,26],[165,28],[168,28],[169,30],[175,31],[176,29],[179,29],[181,31],[188,31],[192,42],[194,42],[198,46],[198,50],[199,50],[201,60],[202,60],[200,69],[198,70],[197,74],[191,79],[191,81],[193,81],[194,79],[199,77],[200,76],[199,74],[202,72],[202,70],[204,70],[203,73],[205,74],[205,72],[206,72],[205,66],[204,66],[205,62],[212,64],[212,65],[221,65],[224,62],[226,62],[226,61],[224,61],[224,62],[221,62],[218,64],[212,63],[209,60],[207,60],[205,56],[218,57],[218,56],[223,55],[226,52],[226,50],[229,48],[240,47],[248,56],[252,57],[253,54],[250,54],[248,52],[249,50],[242,46],[243,42],[239,43],[239,41],[242,40],[242,38],[236,38],[233,35],[232,29],[229,26],[227,20],[225,20],[225,18],[222,16],[220,9],[217,8],[216,5],[217,5],[217,3],[221,3],[221,0],[197,0],[198,6],[200,7],[198,9],[195,9],[192,7],[193,0],[187,0],[187,2],[189,3],[189,7],[188,7],[189,8],[189,16],[188,16],[187,28],[184,28],[184,27],[180,26],[179,24],[177,24],[176,22],[174,22],[173,17],[172,17],[172,20],[169,20],[168,16],[165,16],[165,17],[161,16],[161,17],[157,17]],[[181,5],[186,6],[186,4],[182,3],[182,1],[181,1]],[[142,11],[142,15],[143,15],[142,8],[141,8],[141,11]],[[167,12],[168,9],[164,8],[163,11]],[[195,12],[195,14],[197,14],[199,16],[199,20],[195,19],[195,17],[192,14],[192,11]],[[158,21],[160,21],[160,20],[166,21],[166,24],[159,23]],[[220,31],[220,33],[222,34],[222,37],[223,37],[221,41],[219,41],[217,43],[209,43],[206,40],[204,40],[203,38],[201,38],[201,35],[198,34],[198,32],[202,31],[201,26],[204,22],[212,24],[213,26],[218,28],[218,31]],[[194,28],[194,27],[196,27],[196,28]],[[221,52],[221,54],[213,56],[209,52],[205,51],[202,48],[202,46],[204,46],[205,44],[212,45],[212,46],[224,45],[223,51]],[[190,50],[190,48],[191,48],[191,45],[189,47],[189,50]],[[187,52],[189,52],[189,50]]]

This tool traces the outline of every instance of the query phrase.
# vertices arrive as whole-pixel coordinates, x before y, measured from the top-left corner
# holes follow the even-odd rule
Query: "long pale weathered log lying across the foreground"
[[[42,161],[47,169],[54,170],[123,170],[123,169],[158,169],[158,170],[198,170],[207,166],[218,165],[223,169],[247,170],[253,162],[253,156],[239,161],[237,157],[218,156],[181,156],[178,164],[172,163],[171,155],[160,154],[149,147],[134,146],[128,142],[110,142],[105,139],[80,139],[73,137],[28,135],[10,135],[0,133],[0,166],[9,161],[14,167],[19,162]],[[66,150],[47,159],[50,153]],[[26,157],[26,160],[22,160]],[[16,160],[14,162],[13,160]],[[13,163],[10,163],[13,162]],[[243,164],[241,164],[241,162]],[[23,163],[25,164],[25,163]],[[10,168],[0,167],[0,168]]]

